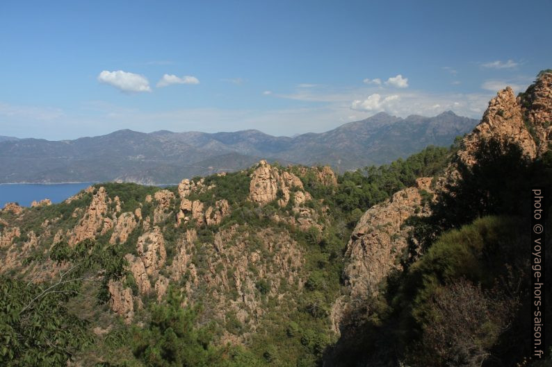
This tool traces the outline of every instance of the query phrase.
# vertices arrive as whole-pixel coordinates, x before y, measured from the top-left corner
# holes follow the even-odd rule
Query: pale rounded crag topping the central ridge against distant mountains
[[[261,160],[251,176],[249,198],[261,205],[278,199],[278,204],[283,207],[289,202],[292,190],[300,190],[310,199],[300,178],[293,173],[271,167],[266,160]]]

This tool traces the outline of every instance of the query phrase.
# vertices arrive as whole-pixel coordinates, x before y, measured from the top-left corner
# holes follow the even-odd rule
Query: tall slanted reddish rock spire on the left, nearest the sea
[[[97,232],[102,230],[104,216],[108,208],[107,199],[106,189],[103,186],[99,187],[96,194],[92,196],[92,203],[88,206],[84,216],[72,230],[72,235],[68,240],[70,246],[74,246],[84,239],[94,239]]]

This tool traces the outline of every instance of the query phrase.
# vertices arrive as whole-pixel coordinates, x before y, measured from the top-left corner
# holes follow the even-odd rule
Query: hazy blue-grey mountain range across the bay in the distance
[[[138,133],[48,141],[0,137],[0,182],[131,181],[147,184],[249,167],[261,158],[282,164],[330,164],[345,171],[391,162],[428,145],[448,146],[475,119],[444,112],[406,119],[386,113],[326,133],[275,137],[235,133]]]

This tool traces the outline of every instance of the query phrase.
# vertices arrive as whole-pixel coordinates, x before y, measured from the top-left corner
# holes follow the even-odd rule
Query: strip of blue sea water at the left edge
[[[6,203],[19,203],[31,206],[33,200],[40,201],[49,198],[52,203],[61,203],[82,189],[94,185],[94,182],[64,183],[64,184],[0,184],[0,209]]]

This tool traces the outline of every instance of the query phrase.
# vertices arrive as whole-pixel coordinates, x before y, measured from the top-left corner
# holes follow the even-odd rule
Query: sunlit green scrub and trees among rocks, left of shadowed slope
[[[266,244],[263,244],[256,234],[263,228],[272,228],[275,235],[282,233],[290,236],[302,248],[305,256],[305,264],[300,269],[301,277],[305,282],[302,291],[296,286],[287,284],[286,280],[281,282],[280,287],[284,288],[280,291],[287,289],[292,292],[289,294],[297,295],[294,296],[297,297],[296,300],[290,299],[279,306],[284,307],[283,309],[275,308],[277,303],[274,296],[270,296],[272,287],[270,280],[261,278],[254,284],[261,297],[261,307],[266,310],[267,315],[257,332],[250,336],[250,341],[245,348],[224,345],[216,347],[215,345],[220,345],[220,341],[213,339],[213,336],[220,334],[222,329],[236,335],[247,332],[247,327],[238,321],[236,314],[229,313],[227,322],[223,325],[210,323],[198,327],[197,317],[204,317],[204,310],[181,307],[183,296],[175,289],[170,290],[168,298],[159,305],[149,296],[142,297],[145,308],[138,312],[136,318],[142,320],[143,327],[138,327],[136,324],[127,326],[115,323],[116,326],[106,336],[99,337],[91,332],[92,328],[98,325],[104,328],[114,325],[113,320],[104,320],[103,324],[98,324],[99,319],[104,319],[102,315],[105,311],[101,309],[105,309],[105,302],[108,300],[108,280],[122,279],[133,295],[138,295],[136,280],[130,273],[124,271],[123,256],[125,253],[136,255],[135,244],[143,233],[140,226],[131,232],[124,244],[113,246],[106,245],[111,237],[111,231],[102,236],[98,235],[97,241],[83,241],[74,248],[64,241],[58,244],[40,244],[36,250],[37,255],[26,260],[26,264],[45,261],[46,258],[42,254],[47,247],[51,246],[50,250],[45,252],[49,254],[51,260],[58,264],[69,262],[78,266],[70,273],[74,282],[68,282],[67,285],[64,283],[63,288],[60,284],[56,285],[54,289],[60,293],[51,293],[47,297],[40,298],[40,302],[36,303],[49,311],[35,316],[35,320],[40,324],[53,323],[51,325],[54,325],[54,328],[51,332],[55,332],[56,327],[61,327],[65,325],[64,323],[70,323],[70,327],[64,329],[67,333],[66,339],[60,337],[56,339],[57,354],[52,354],[54,352],[49,348],[44,348],[45,342],[41,342],[40,339],[36,339],[36,345],[33,345],[19,337],[19,340],[10,339],[11,342],[18,341],[17,345],[20,347],[19,349],[8,348],[11,352],[4,352],[5,361],[10,361],[8,364],[10,366],[25,365],[26,361],[30,360],[30,357],[26,356],[33,356],[33,360],[47,360],[51,366],[65,364],[65,361],[70,358],[88,361],[88,364],[97,364],[97,366],[317,366],[322,363],[325,348],[334,341],[329,331],[330,309],[341,293],[343,270],[341,259],[352,225],[369,205],[384,200],[398,189],[412,185],[416,176],[437,173],[444,167],[448,155],[450,155],[448,149],[430,147],[407,160],[398,160],[388,166],[371,167],[364,172],[346,173],[338,178],[337,187],[322,185],[318,182],[315,172],[307,170],[302,180],[307,191],[315,198],[308,205],[320,216],[320,223],[324,224],[323,230],[313,226],[307,231],[302,231],[283,221],[275,223],[272,220],[275,214],[282,218],[293,218],[297,215],[292,211],[293,192],[291,203],[284,208],[279,207],[276,201],[259,207],[247,200],[252,171],[204,178],[203,185],[206,189],[191,194],[189,199],[201,200],[206,206],[214,205],[217,200],[226,199],[231,206],[231,214],[225,217],[220,225],[204,225],[197,228],[198,238],[192,261],[200,275],[208,266],[209,249],[212,248],[214,234],[232,225],[238,225],[240,231],[250,234],[249,249],[260,251],[263,259],[269,260],[271,256],[266,249]],[[291,168],[291,170],[294,169]],[[194,181],[199,181],[199,178],[195,178]],[[161,189],[117,183],[95,185],[95,189],[99,189],[100,186],[105,187],[108,197],[112,200],[110,212],[114,211],[114,199],[118,196],[122,206],[121,212],[133,212],[140,207],[143,217],[151,216],[154,212],[154,203],[146,203],[145,197],[153,196]],[[176,187],[168,187],[168,189],[177,194]],[[79,214],[82,214],[82,211],[90,205],[92,194],[83,192],[79,198],[69,204],[33,208],[26,215],[26,223],[22,230],[24,232],[34,230],[35,233],[40,234],[44,230],[42,228],[44,219],[56,221],[58,228],[63,231],[74,227],[81,217],[81,215],[73,215],[74,212],[80,210]],[[283,196],[283,193],[279,193],[279,196]],[[320,204],[320,199],[324,204]],[[170,205],[174,210],[177,203]],[[326,214],[323,214],[323,205],[327,205],[330,210]],[[6,219],[14,220],[11,217]],[[170,264],[181,233],[188,228],[195,228],[195,223],[191,221],[182,228],[175,228],[174,216],[168,216],[160,226],[163,228],[163,237],[165,237],[167,264]],[[91,279],[90,277],[100,269],[103,269],[101,278],[95,279],[94,282],[83,281]],[[223,271],[220,264],[217,269]],[[258,274],[255,266],[250,266],[250,269]],[[231,284],[234,284],[231,270],[228,278],[232,280]],[[53,281],[55,282],[56,279],[54,278]],[[35,294],[33,292],[47,289],[52,285],[42,284],[40,288],[26,287],[24,282],[8,278],[3,278],[2,284],[3,291],[22,293],[19,297],[23,298],[30,298]],[[70,286],[71,288],[67,288]],[[198,291],[206,293],[207,290],[200,288]],[[232,299],[238,298],[238,291],[238,289],[230,291]],[[17,299],[17,296],[10,293],[3,300],[10,298]],[[21,303],[23,304],[24,301]],[[8,311],[13,311],[12,307],[15,307],[10,305],[10,302],[4,302],[3,305],[8,308]],[[97,309],[94,305],[104,306]],[[83,309],[88,311],[83,314],[81,311]],[[8,327],[6,330],[18,330],[17,328],[20,329],[26,325],[26,321],[10,321],[6,316],[2,316],[1,319],[2,327],[4,329]],[[46,331],[44,331],[46,335],[44,337],[49,338]],[[4,334],[10,335],[7,332]],[[70,339],[69,336],[74,336],[74,339]],[[31,334],[27,337],[30,339]],[[129,340],[131,345],[127,343]]]

